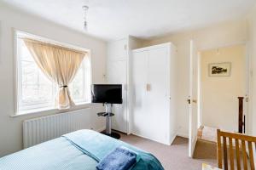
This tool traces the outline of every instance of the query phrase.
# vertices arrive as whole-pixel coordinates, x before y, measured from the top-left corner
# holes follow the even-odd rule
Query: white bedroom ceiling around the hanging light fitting
[[[113,40],[150,39],[247,14],[255,0],[0,0],[85,34]],[[88,31],[82,6],[89,6]]]

